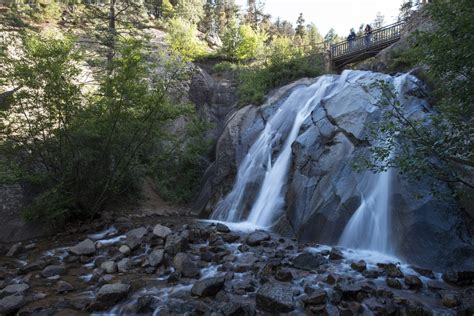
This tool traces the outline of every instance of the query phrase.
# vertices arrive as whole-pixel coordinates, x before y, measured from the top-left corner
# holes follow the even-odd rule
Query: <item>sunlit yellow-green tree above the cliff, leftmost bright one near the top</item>
[[[166,40],[171,50],[188,61],[203,57],[207,53],[206,44],[197,38],[196,26],[181,18],[169,21]]]

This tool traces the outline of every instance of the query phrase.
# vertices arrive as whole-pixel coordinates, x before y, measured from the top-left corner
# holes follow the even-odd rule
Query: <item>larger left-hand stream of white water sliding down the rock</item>
[[[291,145],[298,137],[302,124],[322,99],[331,97],[361,76],[363,73],[351,72],[339,77],[323,76],[311,86],[296,88],[250,147],[238,168],[232,191],[218,204],[211,218],[226,222],[244,221],[260,227],[270,226],[284,207],[285,194],[282,191],[291,163]],[[280,145],[279,150],[273,150]],[[260,189],[249,207],[249,185],[255,183]],[[243,214],[249,214],[248,218],[243,218]]]

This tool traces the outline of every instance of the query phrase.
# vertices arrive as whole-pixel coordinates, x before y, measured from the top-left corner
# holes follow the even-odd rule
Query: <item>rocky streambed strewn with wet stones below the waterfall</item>
[[[473,315],[474,272],[150,217],[9,247],[0,314]]]

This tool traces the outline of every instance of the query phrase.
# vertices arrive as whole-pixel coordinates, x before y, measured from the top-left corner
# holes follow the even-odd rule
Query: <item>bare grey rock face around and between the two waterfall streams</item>
[[[403,109],[411,117],[430,110],[423,99],[423,85],[415,77],[365,72],[357,82],[351,82],[360,74],[343,74],[347,87],[325,98],[304,122],[292,145],[292,165],[284,196],[286,207],[276,224],[277,231],[301,241],[338,242],[349,218],[361,204],[360,185],[368,177],[367,173],[354,171],[352,164],[359,155],[367,156],[367,125],[381,115],[374,99],[377,92],[371,87],[374,82],[399,81]],[[198,200],[203,217],[209,216],[230,191],[237,167],[281,102],[294,89],[314,82],[305,79],[283,87],[261,107],[244,107],[228,119],[217,143],[215,163],[207,171]],[[278,152],[279,148],[274,150]],[[438,185],[447,190],[443,184]],[[259,186],[258,181],[248,183],[245,194],[249,205]],[[455,201],[439,200],[429,194],[427,184],[410,182],[402,175],[395,176],[392,188],[391,234],[397,255],[433,268],[474,267],[472,238]]]

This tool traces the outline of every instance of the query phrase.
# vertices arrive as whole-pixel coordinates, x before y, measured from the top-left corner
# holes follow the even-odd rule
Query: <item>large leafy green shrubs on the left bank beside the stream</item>
[[[149,80],[136,40],[124,40],[98,90],[83,95],[75,47],[70,38],[28,36],[20,55],[1,57],[2,85],[18,90],[0,112],[0,157],[36,189],[31,220],[93,217],[131,196],[147,157],[166,142],[164,125],[190,111],[169,99],[169,78]]]

